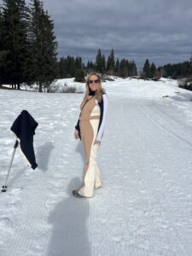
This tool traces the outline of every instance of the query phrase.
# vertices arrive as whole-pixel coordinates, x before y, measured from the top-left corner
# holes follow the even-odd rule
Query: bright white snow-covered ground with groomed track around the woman
[[[98,156],[103,186],[90,199],[71,193],[83,173],[73,139],[83,95],[0,90],[2,185],[15,144],[10,126],[22,109],[39,124],[38,168],[16,152],[0,194],[1,256],[191,255],[192,93],[166,79],[103,87],[110,101]]]

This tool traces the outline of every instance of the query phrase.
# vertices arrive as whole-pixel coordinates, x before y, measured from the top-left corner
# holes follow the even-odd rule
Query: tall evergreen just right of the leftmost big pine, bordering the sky
[[[32,77],[42,92],[43,86],[48,87],[57,73],[54,22],[48,12],[44,11],[40,0],[32,0],[31,19]]]

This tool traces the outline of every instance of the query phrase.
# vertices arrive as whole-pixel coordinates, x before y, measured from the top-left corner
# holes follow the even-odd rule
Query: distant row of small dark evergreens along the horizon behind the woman
[[[107,61],[106,61],[107,60]],[[101,49],[97,50],[96,60],[88,61],[85,65],[81,57],[74,58],[68,55],[66,58],[61,57],[58,61],[58,78],[73,78],[76,81],[84,81],[86,73],[98,72],[102,75],[114,75],[121,78],[137,76],[137,65],[135,61],[126,59],[115,59],[114,50],[111,49],[108,58],[102,54]],[[172,78],[180,79],[190,77],[192,74],[192,58],[190,61],[183,61],[177,64],[166,64],[164,66],[156,67],[154,62],[150,63],[148,59],[144,62],[143,68],[139,73],[140,78],[143,79],[160,79]]]

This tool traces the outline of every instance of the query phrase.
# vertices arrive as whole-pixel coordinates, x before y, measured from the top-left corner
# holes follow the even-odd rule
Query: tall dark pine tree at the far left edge
[[[2,22],[5,56],[5,79],[7,83],[26,82],[26,67],[29,58],[27,41],[29,12],[25,0],[3,0]]]

